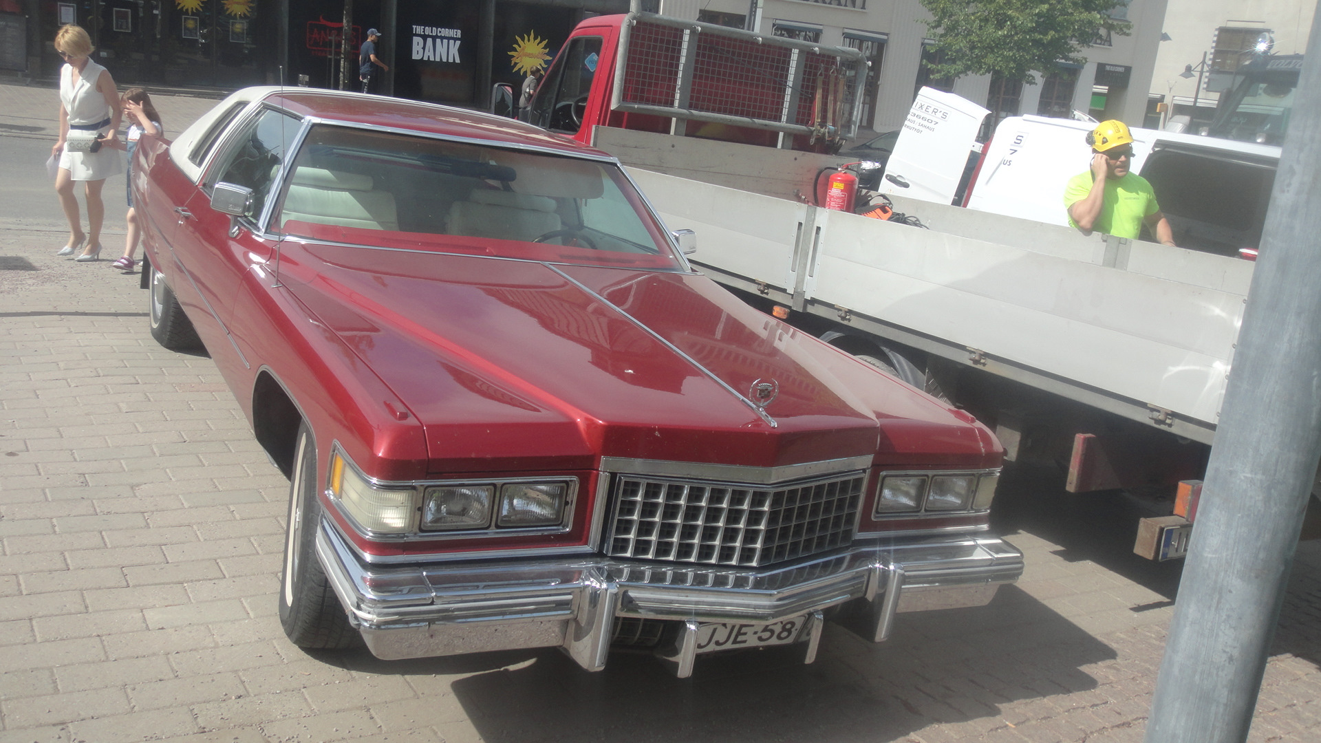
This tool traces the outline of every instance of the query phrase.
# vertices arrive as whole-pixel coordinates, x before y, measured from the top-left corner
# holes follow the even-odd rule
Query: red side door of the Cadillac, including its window
[[[254,264],[273,260],[277,241],[264,237],[258,221],[301,126],[299,118],[284,111],[258,108],[240,124],[235,136],[226,137],[214,165],[206,171],[202,188],[194,190],[185,205],[178,226],[176,241],[189,246],[181,258],[188,280],[235,350],[238,345],[231,336],[234,297]],[[218,182],[252,189],[252,201],[244,215],[231,217],[211,208],[211,193]],[[247,366],[242,352],[238,356]]]

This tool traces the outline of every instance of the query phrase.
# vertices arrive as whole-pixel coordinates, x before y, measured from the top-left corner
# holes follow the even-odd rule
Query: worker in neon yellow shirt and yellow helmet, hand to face
[[[1069,178],[1065,186],[1069,223],[1087,234],[1137,239],[1147,222],[1157,241],[1174,245],[1174,231],[1156,204],[1152,184],[1128,171],[1133,161],[1133,135],[1128,127],[1123,122],[1102,122],[1087,132],[1087,144],[1091,169]]]

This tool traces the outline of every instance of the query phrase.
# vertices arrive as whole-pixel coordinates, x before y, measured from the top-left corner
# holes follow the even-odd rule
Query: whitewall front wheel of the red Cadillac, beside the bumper
[[[334,595],[317,559],[317,448],[306,422],[299,426],[289,477],[289,525],[284,541],[284,572],[280,578],[280,624],[289,641],[300,648],[342,649],[358,644],[359,635]]]

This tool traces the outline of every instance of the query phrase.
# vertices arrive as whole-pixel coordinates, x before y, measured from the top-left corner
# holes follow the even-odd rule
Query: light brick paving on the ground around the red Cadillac
[[[136,275],[15,222],[0,256],[34,270],[0,270],[0,743],[1141,740],[1178,567],[1054,493],[1004,504],[1028,570],[989,607],[901,615],[881,645],[828,628],[811,666],[303,652],[276,616],[288,484],[214,364],[156,345]],[[1306,543],[1251,740],[1321,740],[1318,620]]]

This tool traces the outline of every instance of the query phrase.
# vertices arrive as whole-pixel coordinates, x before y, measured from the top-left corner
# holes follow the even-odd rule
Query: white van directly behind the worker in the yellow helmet
[[[1092,156],[1085,137],[1094,127],[1045,116],[1011,116],[1000,122],[983,149],[963,205],[1067,225],[1065,184],[1087,171]],[[1143,128],[1129,131],[1132,171],[1151,181],[1180,247],[1221,255],[1258,247],[1280,161],[1279,147]],[[896,153],[904,139],[901,134]],[[888,171],[901,167],[892,157]],[[918,193],[910,196],[921,198]]]

